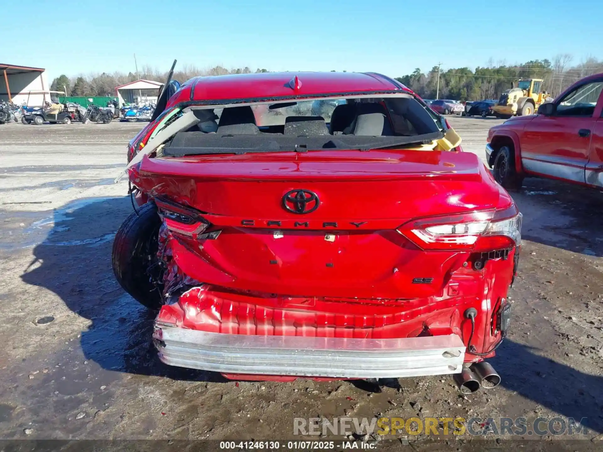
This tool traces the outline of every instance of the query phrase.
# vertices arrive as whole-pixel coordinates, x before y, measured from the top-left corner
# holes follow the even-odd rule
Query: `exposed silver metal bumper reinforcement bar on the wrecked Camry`
[[[457,374],[465,345],[456,334],[400,339],[253,336],[156,324],[162,362],[232,374],[396,378]]]

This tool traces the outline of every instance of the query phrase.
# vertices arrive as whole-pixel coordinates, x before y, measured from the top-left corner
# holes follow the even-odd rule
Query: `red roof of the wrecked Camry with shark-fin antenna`
[[[297,89],[295,89],[297,77]],[[168,106],[187,101],[270,99],[348,93],[412,93],[403,84],[373,72],[262,72],[194,77],[169,99]]]

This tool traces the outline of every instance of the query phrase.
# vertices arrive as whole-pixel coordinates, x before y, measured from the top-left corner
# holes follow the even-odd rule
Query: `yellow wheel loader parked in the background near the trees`
[[[492,110],[499,118],[533,115],[538,106],[545,102],[548,93],[540,90],[543,80],[523,78],[517,81],[517,87],[506,90]],[[513,84],[515,85],[515,84]]]

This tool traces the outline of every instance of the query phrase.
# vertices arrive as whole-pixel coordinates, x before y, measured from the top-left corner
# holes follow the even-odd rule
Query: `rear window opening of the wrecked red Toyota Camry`
[[[200,119],[165,155],[403,147],[443,136],[438,118],[409,95],[193,108]]]

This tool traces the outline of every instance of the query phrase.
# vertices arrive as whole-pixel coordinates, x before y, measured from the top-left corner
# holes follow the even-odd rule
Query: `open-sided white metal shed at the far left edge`
[[[42,67],[0,63],[0,99],[22,104],[29,96],[30,105],[38,107],[42,106],[44,101],[50,101],[44,71]],[[30,92],[34,91],[39,93],[31,96]]]

